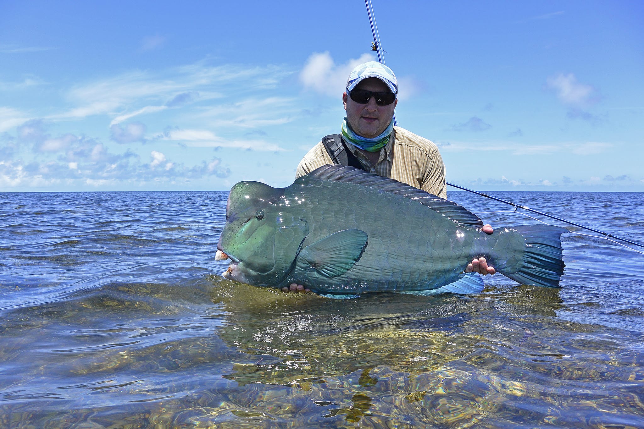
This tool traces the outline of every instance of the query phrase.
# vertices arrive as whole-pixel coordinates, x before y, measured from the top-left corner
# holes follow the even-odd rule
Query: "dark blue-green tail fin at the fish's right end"
[[[526,241],[523,259],[516,264],[513,273],[504,272],[501,268],[498,271],[520,284],[560,288],[559,282],[564,274],[561,235],[568,230],[540,224],[514,226],[513,229]]]

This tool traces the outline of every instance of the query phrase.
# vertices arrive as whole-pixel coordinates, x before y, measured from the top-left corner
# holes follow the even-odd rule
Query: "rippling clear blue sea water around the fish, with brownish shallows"
[[[641,193],[490,194],[644,242]],[[226,198],[0,194],[0,427],[644,427],[642,253],[567,226],[562,289],[330,300],[220,277]]]

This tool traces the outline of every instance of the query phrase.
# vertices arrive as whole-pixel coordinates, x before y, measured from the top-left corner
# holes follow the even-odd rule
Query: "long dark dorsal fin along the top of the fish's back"
[[[392,192],[392,194],[413,199],[455,223],[479,229],[483,227],[483,221],[477,215],[463,206],[459,206],[457,203],[447,201],[446,199],[414,188],[406,183],[401,183],[395,179],[383,178],[377,174],[354,169],[354,167],[323,165],[308,173],[306,176],[296,179],[296,183],[307,180],[332,180],[381,189],[386,192]]]

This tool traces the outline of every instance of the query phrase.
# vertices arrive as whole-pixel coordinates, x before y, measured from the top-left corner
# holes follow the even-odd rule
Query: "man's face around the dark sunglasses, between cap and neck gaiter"
[[[367,91],[386,91],[392,92],[386,84],[379,78],[366,78],[355,89],[366,89]],[[345,103],[346,122],[359,136],[374,138],[379,136],[389,123],[392,122],[393,109],[398,104],[396,98],[392,104],[377,105],[375,97],[372,97],[367,104],[354,102],[346,93],[342,95],[342,101]]]

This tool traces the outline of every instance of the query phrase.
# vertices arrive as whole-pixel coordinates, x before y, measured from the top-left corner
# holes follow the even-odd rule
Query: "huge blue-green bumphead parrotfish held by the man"
[[[325,295],[475,293],[475,257],[521,284],[558,288],[564,228],[497,228],[451,201],[352,167],[325,165],[286,188],[232,187],[216,259],[254,286],[304,284]],[[426,291],[426,292],[419,292]]]

